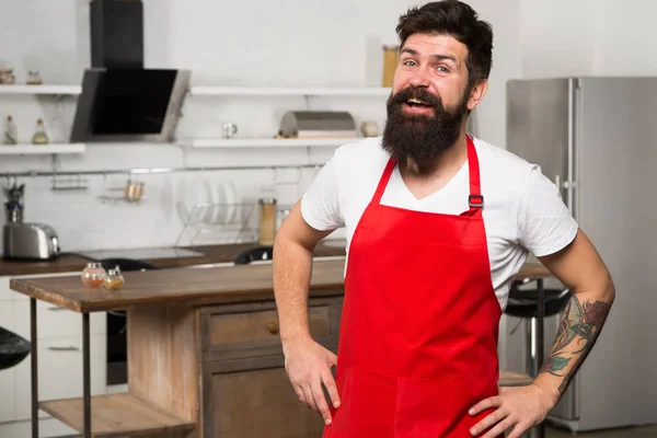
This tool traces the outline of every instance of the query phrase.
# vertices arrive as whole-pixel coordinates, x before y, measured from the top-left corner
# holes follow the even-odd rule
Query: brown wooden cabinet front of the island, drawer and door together
[[[313,339],[337,353],[342,291],[309,300]],[[319,437],[324,422],[303,405],[285,370],[273,301],[200,312],[204,437]]]

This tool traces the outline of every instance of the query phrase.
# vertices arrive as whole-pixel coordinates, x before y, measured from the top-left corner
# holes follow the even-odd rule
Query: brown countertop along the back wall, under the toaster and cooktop
[[[241,252],[254,247],[254,243],[227,244],[227,245],[207,245],[195,247],[183,247],[204,254],[199,257],[180,257],[180,258],[142,258],[141,261],[150,263],[161,268],[185,267],[194,265],[207,265],[215,263],[231,263]],[[314,252],[316,257],[344,256],[345,250],[342,247],[328,246],[320,242]],[[0,258],[0,277],[14,275],[36,275],[36,274],[59,274],[70,272],[81,272],[84,265],[91,260],[76,254],[62,254],[51,261],[10,261]]]

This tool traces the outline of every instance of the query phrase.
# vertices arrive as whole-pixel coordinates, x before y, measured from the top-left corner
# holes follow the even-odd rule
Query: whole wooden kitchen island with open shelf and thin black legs
[[[337,353],[344,261],[315,261],[309,297],[313,338]],[[526,266],[520,278],[544,278]],[[123,289],[80,277],[12,279],[31,298],[33,437],[38,410],[84,437],[321,437],[321,417],[297,399],[285,371],[272,265],[124,273]],[[81,313],[81,399],[38,401],[36,300]],[[127,311],[128,392],[90,395],[89,313]],[[61,370],[66,372],[66,370]],[[500,384],[526,384],[503,372]]]

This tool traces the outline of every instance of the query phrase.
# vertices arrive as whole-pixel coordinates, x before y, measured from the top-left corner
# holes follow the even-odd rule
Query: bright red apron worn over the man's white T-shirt
[[[380,204],[390,160],[351,240],[336,383],[324,438],[471,437],[497,394],[502,310],[491,283],[476,151],[460,216]],[[483,435],[483,434],[482,434]]]

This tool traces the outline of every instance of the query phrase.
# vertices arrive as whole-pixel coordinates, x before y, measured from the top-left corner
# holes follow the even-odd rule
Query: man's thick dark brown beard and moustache
[[[435,162],[459,138],[461,122],[468,113],[468,95],[453,107],[445,107],[440,97],[425,89],[408,87],[388,99],[388,120],[382,145],[393,159],[413,160],[418,165]],[[410,99],[417,99],[434,114],[411,114],[404,110]]]

